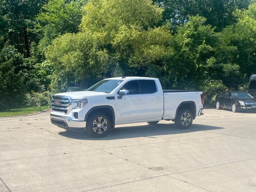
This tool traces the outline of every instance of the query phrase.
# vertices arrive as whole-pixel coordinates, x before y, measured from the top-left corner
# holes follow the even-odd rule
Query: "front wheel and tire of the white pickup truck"
[[[85,131],[92,137],[101,138],[108,134],[111,126],[111,120],[108,115],[106,115],[105,113],[93,113],[88,116]],[[104,129],[104,127],[106,128],[106,130]]]

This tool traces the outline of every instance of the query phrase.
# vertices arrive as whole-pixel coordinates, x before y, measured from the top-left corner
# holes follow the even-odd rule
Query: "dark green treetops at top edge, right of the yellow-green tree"
[[[164,8],[163,21],[170,20],[172,26],[188,22],[188,16],[199,14],[206,18],[206,24],[222,30],[235,22],[233,12],[248,8],[255,0],[154,0]]]

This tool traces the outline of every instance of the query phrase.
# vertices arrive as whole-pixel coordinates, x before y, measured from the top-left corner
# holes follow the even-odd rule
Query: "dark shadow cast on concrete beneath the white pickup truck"
[[[115,139],[125,139],[125,138],[136,138],[136,137],[157,137],[158,135],[170,135],[170,134],[180,134],[189,133],[197,131],[207,131],[223,129],[216,126],[192,124],[189,129],[182,130],[176,128],[174,123],[171,124],[156,124],[156,125],[140,125],[140,126],[124,126],[114,128],[110,130],[108,134],[103,138],[92,138],[86,132],[73,132],[73,131],[63,131],[58,134],[64,137],[80,139],[80,140],[115,140]]]

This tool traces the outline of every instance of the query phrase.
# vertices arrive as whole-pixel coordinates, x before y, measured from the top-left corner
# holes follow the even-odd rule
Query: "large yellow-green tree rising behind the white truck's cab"
[[[161,64],[171,37],[168,25],[156,27],[161,8],[148,0],[91,0],[84,11],[81,32],[56,38],[46,52],[55,74],[66,74],[55,85],[92,84],[117,71],[142,75]]]

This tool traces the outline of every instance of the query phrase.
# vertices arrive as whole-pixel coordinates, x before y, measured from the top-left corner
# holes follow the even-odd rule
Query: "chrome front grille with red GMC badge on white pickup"
[[[68,113],[72,100],[67,96],[52,96],[52,111]]]

